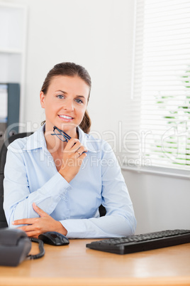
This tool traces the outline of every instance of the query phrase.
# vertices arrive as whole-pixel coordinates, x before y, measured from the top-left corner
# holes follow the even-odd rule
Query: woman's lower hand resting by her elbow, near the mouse
[[[23,218],[16,221],[13,221],[13,226],[26,225],[18,227],[22,231],[25,231],[28,236],[33,238],[38,238],[38,235],[45,233],[47,231],[57,231],[57,233],[62,233],[67,235],[67,230],[62,226],[60,221],[55,221],[54,218],[47,215],[45,211],[41,208],[38,208],[35,203],[33,203],[33,209],[36,213],[40,215],[40,218]]]

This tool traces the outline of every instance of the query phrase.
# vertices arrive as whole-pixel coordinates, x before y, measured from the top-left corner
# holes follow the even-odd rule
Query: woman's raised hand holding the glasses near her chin
[[[79,139],[72,138],[67,142],[67,145],[62,155],[62,166],[59,173],[66,181],[71,181],[77,175],[82,161],[86,157],[87,150],[79,142]]]

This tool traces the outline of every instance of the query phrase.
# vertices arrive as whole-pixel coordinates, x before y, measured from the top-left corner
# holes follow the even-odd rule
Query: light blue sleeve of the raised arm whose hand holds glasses
[[[64,193],[72,189],[60,173],[56,172],[40,189],[30,192],[23,151],[15,150],[9,145],[4,169],[4,211],[10,227],[13,227],[11,222],[17,219],[39,216],[33,210],[33,202],[47,214],[52,213]],[[33,176],[33,180],[35,179],[37,178]]]

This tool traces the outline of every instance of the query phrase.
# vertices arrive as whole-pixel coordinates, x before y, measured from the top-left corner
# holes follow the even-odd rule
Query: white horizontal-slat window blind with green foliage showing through
[[[190,170],[190,1],[137,0],[122,164]]]

